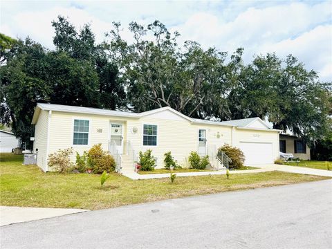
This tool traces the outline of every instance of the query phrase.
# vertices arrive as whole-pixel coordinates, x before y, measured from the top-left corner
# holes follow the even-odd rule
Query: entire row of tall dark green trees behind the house
[[[23,141],[37,102],[147,111],[172,107],[192,118],[231,120],[260,117],[276,129],[306,140],[331,142],[331,82],[320,82],[292,55],[232,55],[197,42],[179,45],[159,21],[120,23],[95,42],[89,24],[77,30],[68,19],[53,21],[55,50],[30,38],[1,34],[1,123]]]

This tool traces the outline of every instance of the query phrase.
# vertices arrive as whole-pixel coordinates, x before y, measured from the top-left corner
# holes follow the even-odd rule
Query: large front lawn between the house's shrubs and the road
[[[100,187],[100,175],[44,173],[22,165],[22,156],[0,154],[0,205],[98,210],[132,203],[196,194],[212,194],[290,183],[319,181],[321,176],[283,172],[177,177],[133,181],[118,174]]]

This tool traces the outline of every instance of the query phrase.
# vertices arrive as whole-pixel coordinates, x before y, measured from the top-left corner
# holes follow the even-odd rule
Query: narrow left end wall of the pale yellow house
[[[35,141],[33,142],[33,152],[37,153],[37,165],[44,171],[47,171],[47,136],[48,111],[40,111],[38,122],[35,124]]]

